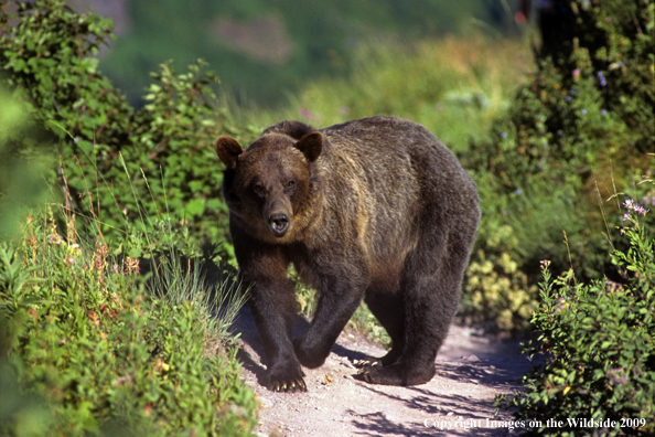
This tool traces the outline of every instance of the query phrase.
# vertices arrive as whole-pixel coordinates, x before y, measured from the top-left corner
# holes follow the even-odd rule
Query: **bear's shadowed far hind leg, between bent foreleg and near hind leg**
[[[364,301],[391,338],[391,350],[371,364],[391,365],[405,349],[405,302],[402,295],[399,290],[396,292],[367,290]]]

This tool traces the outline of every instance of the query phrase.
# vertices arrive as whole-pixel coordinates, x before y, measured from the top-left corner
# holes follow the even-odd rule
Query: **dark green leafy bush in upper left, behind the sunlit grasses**
[[[228,113],[219,111],[211,88],[217,78],[203,71],[204,63],[184,74],[162,65],[148,104],[135,110],[97,70],[94,55],[111,38],[108,20],[77,14],[63,0],[19,2],[15,9],[12,15],[2,8],[0,20],[4,83],[28,102],[33,122],[51,131],[61,157],[52,178],[64,185],[65,169],[77,212],[90,215],[95,202],[109,238],[122,237],[117,230],[138,225],[135,218],[160,213],[186,220],[194,238],[225,238],[227,214],[212,143],[222,132],[239,131]],[[17,25],[9,24],[12,18]],[[31,148],[20,138],[13,143]],[[80,200],[87,192],[92,198]]]

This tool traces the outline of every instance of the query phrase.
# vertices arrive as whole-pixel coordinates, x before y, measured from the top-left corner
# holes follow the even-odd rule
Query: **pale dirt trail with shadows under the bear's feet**
[[[297,323],[299,332],[305,323],[304,320]],[[234,328],[241,333],[238,358],[244,364],[244,377],[261,403],[259,425],[255,429],[258,436],[516,433],[507,424],[497,423],[512,420],[509,414],[493,414],[495,395],[515,391],[518,379],[530,366],[525,356],[518,355],[516,341],[503,342],[452,326],[437,356],[437,375],[432,381],[415,387],[396,387],[356,379],[354,360],[382,356],[386,351],[346,330],[322,367],[304,369],[308,393],[287,394],[269,392],[260,383],[266,369],[264,352],[247,309],[241,311]]]

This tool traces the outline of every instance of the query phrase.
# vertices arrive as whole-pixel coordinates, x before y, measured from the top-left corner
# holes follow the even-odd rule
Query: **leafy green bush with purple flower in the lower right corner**
[[[543,303],[530,320],[539,338],[526,351],[545,353],[546,363],[524,377],[526,392],[514,398],[517,417],[541,420],[535,434],[655,433],[655,239],[645,226],[648,210],[630,199],[623,206],[627,247],[611,254],[620,283],[578,283],[572,270],[551,279],[543,262]],[[547,426],[549,419],[565,427]]]

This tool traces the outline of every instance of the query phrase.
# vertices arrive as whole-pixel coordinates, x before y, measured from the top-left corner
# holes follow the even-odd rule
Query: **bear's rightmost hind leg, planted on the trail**
[[[405,348],[391,365],[372,369],[367,382],[418,385],[434,376],[434,359],[458,309],[470,242],[423,236],[408,254],[400,289],[405,301]],[[444,242],[450,245],[445,248]]]

